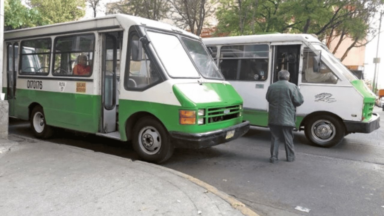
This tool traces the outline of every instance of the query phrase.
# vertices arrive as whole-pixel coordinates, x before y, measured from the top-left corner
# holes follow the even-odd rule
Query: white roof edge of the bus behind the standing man
[[[203,38],[206,45],[220,44],[240,44],[240,43],[269,43],[282,41],[309,41],[320,42],[317,37],[309,34],[263,34],[263,35],[243,35],[232,37]]]

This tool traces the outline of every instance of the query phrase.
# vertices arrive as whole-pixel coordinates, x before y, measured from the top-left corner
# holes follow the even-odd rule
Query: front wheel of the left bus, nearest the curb
[[[132,144],[145,161],[162,163],[173,154],[174,147],[164,126],[153,117],[143,117],[133,128]]]

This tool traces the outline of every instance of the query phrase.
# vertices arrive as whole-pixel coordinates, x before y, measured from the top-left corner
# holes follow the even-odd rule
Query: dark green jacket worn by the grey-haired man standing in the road
[[[296,107],[303,104],[304,99],[295,84],[287,80],[272,83],[265,98],[269,102],[268,125],[296,127]]]

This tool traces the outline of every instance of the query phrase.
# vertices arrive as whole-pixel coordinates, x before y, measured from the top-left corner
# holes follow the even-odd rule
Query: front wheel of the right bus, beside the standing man
[[[311,143],[326,148],[341,143],[346,134],[343,123],[329,115],[314,116],[307,121],[304,131]]]

